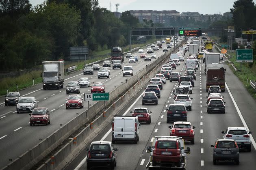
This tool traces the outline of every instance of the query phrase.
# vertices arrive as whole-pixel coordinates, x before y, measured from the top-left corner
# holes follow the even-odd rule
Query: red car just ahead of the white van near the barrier
[[[132,116],[138,116],[139,122],[151,123],[151,113],[148,108],[135,108],[133,112],[130,112]]]

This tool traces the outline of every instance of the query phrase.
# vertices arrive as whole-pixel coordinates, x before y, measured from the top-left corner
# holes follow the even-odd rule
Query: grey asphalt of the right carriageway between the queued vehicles
[[[215,51],[217,52],[217,51]],[[188,54],[188,53],[187,53]],[[226,58],[224,59],[226,60]],[[224,64],[225,62],[223,62]],[[204,74],[204,63],[200,62],[200,68],[196,71],[197,79],[193,94],[191,94],[192,111],[188,112],[188,121],[195,126],[195,144],[185,142],[185,147],[191,148],[191,154],[187,156],[187,170],[252,170],[256,169],[256,151],[255,142],[252,145],[250,153],[246,150],[240,151],[240,165],[237,166],[230,162],[222,162],[213,165],[213,148],[216,138],[222,138],[221,131],[226,130],[228,126],[248,126],[252,131],[252,136],[255,136],[255,101],[249,96],[243,84],[232,73],[232,70],[226,67],[226,91],[223,93],[226,102],[226,114],[207,114],[206,110],[206,75]],[[184,75],[185,65],[177,67],[177,70]],[[121,111],[122,115],[130,115],[130,111],[135,107],[147,107],[152,111],[151,124],[143,124],[140,126],[140,140],[137,144],[130,142],[118,142],[115,144],[117,151],[117,170],[145,170],[148,163],[149,154],[146,153],[147,146],[151,146],[151,141],[154,136],[168,136],[171,123],[166,123],[165,109],[170,103],[174,95],[172,90],[178,85],[177,82],[167,81],[161,90],[161,99],[158,99],[158,105],[142,105],[141,94],[143,90],[130,102],[126,108]],[[242,118],[243,116],[243,118]],[[111,124],[102,131],[94,141],[111,141]],[[89,146],[87,146],[88,148]],[[66,169],[82,170],[86,169],[87,153],[82,152]],[[94,169],[107,169],[106,167]]]

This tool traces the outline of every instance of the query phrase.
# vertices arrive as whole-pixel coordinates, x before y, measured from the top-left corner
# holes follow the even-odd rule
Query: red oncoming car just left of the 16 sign
[[[66,109],[84,107],[84,99],[80,95],[69,95],[65,100]]]

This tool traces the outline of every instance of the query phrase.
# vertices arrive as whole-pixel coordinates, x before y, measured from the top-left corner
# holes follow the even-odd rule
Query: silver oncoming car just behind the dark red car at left
[[[17,113],[32,112],[34,108],[37,108],[37,100],[35,97],[21,97],[17,106]]]

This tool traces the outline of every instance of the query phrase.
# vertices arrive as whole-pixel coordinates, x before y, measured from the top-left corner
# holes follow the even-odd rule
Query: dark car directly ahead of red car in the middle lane
[[[187,109],[184,104],[170,104],[166,109],[166,123],[175,121],[187,121]]]

